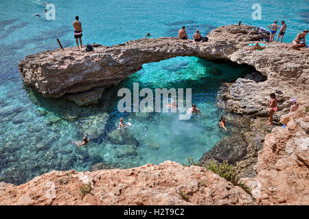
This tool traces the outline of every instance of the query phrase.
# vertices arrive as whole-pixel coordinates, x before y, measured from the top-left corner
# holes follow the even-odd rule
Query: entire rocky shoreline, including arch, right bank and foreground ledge
[[[95,103],[104,88],[125,79],[147,62],[181,55],[254,66],[258,73],[225,83],[218,92],[218,107],[225,110],[229,123],[243,131],[232,129],[199,161],[205,164],[212,159],[227,159],[236,165],[242,181],[251,188],[251,196],[196,166],[164,162],[128,170],[98,170],[113,168],[98,164],[91,169],[93,172],[52,171],[19,186],[2,182],[0,204],[309,205],[309,54],[287,51],[279,44],[268,44],[263,51],[244,51],[248,43],[266,38],[252,28],[218,27],[209,33],[209,42],[198,45],[176,38],[158,38],[102,46],[91,54],[72,48],[56,49],[28,55],[19,64],[28,86],[54,97],[82,92],[78,94],[81,98],[71,96],[80,105]],[[89,90],[95,94],[87,93]],[[275,123],[266,125],[269,93],[276,90],[279,102]],[[297,98],[299,108],[290,113],[292,98]],[[49,181],[56,185],[55,197],[45,196]],[[78,190],[87,183],[93,190],[80,198]],[[189,194],[189,198],[183,200],[181,192]]]

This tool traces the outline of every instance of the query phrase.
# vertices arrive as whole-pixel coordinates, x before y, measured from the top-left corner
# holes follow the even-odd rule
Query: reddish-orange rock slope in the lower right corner
[[[243,179],[260,205],[309,205],[308,99],[299,100],[297,112],[281,117],[286,127],[266,135],[254,178]]]

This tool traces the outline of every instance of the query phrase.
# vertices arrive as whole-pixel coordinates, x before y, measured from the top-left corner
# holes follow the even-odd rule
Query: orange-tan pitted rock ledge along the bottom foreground
[[[91,183],[81,196],[80,186]],[[187,200],[181,196],[187,195]],[[175,162],[128,170],[52,171],[25,184],[0,183],[0,205],[255,205],[205,168]]]

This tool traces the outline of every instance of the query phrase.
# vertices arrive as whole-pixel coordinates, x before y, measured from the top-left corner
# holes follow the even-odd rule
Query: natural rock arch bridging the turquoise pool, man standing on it
[[[247,104],[249,101],[249,105],[250,99],[260,102],[254,92],[271,92],[276,87],[290,95],[306,94],[304,86],[300,85],[309,83],[309,54],[303,51],[288,51],[275,43],[269,44],[264,51],[244,51],[248,43],[268,38],[268,35],[258,34],[252,29],[253,27],[248,25],[218,27],[209,33],[209,42],[201,44],[177,38],[149,38],[132,40],[113,47],[100,46],[95,48],[95,52],[89,53],[79,51],[76,47],[65,48],[64,51],[49,50],[27,55],[25,60],[19,63],[19,71],[28,86],[45,96],[60,97],[113,86],[148,62],[159,62],[176,56],[196,56],[249,64],[268,77],[267,81],[259,86],[249,86],[256,89],[251,89],[248,96],[239,96],[240,91],[231,90],[231,96],[227,95],[229,102],[233,102],[228,103],[230,110],[255,114],[260,108],[249,109],[244,101],[247,101]],[[238,82],[242,85],[248,83]],[[104,88],[99,90],[101,94],[95,94],[94,97],[91,93],[86,94],[85,98],[99,99],[103,90]],[[242,88],[241,92],[243,91]]]

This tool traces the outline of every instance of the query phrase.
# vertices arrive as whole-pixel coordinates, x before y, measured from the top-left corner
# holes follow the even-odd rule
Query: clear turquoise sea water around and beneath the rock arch
[[[242,21],[267,27],[275,19],[288,25],[284,41],[308,29],[309,2],[260,1],[262,20],[253,21],[255,1],[52,1],[56,21],[47,21],[40,1],[0,1],[0,181],[23,183],[50,170],[88,170],[98,162],[122,168],[159,164],[166,159],[199,159],[224,136],[216,123],[222,112],[215,107],[216,92],[225,81],[235,81],[247,66],[176,57],[145,64],[143,69],[104,92],[98,105],[78,107],[65,99],[44,98],[23,86],[17,64],[25,55],[73,46],[76,15],[83,42],[113,45],[141,38],[176,36],[186,25],[203,35],[220,25]],[[301,5],[301,6],[300,6]],[[198,120],[180,121],[176,114],[117,112],[117,90],[131,88],[193,88],[192,100],[203,112]],[[119,117],[133,124],[117,132]],[[78,148],[71,140],[92,140]]]

